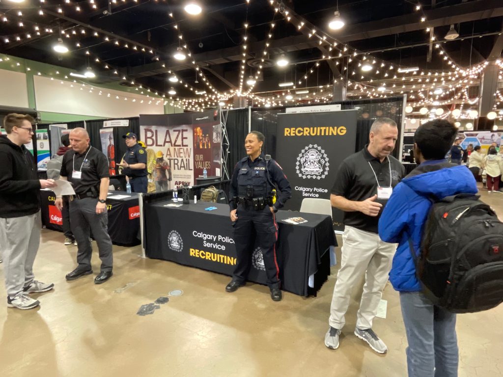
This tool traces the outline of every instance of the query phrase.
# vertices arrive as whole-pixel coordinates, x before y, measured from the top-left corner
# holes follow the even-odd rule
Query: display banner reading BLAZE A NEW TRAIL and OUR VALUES
[[[204,113],[140,115],[140,139],[162,152],[173,186],[192,185],[203,175],[221,175],[221,129],[218,110]]]

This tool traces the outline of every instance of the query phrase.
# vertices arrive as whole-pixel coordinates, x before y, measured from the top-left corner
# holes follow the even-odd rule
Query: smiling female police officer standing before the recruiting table
[[[246,136],[244,148],[247,157],[236,164],[232,174],[230,219],[234,223],[237,263],[232,280],[225,290],[235,292],[244,285],[250,269],[251,251],[257,246],[262,249],[271,298],[280,301],[275,213],[291,197],[292,190],[281,167],[269,155],[264,157],[262,154],[264,139],[264,135],[258,131]]]

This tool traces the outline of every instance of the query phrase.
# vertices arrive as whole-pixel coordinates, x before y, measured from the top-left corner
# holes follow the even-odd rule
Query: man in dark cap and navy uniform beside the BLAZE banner
[[[147,192],[147,153],[137,142],[136,134],[128,132],[122,136],[126,139],[127,150],[124,160],[119,164],[124,168],[123,173],[129,178],[133,193]]]

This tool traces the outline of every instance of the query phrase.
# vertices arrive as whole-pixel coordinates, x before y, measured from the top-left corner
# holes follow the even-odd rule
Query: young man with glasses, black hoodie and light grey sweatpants
[[[8,114],[7,135],[0,136],[0,249],[4,259],[7,306],[33,309],[40,303],[28,296],[51,290],[54,284],[34,279],[33,262],[40,244],[40,189],[54,187],[52,179],[37,179],[29,115]]]

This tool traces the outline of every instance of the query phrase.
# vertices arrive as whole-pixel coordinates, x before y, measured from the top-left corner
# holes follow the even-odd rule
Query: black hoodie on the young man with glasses
[[[40,181],[24,145],[0,135],[0,217],[28,216],[40,210]]]

